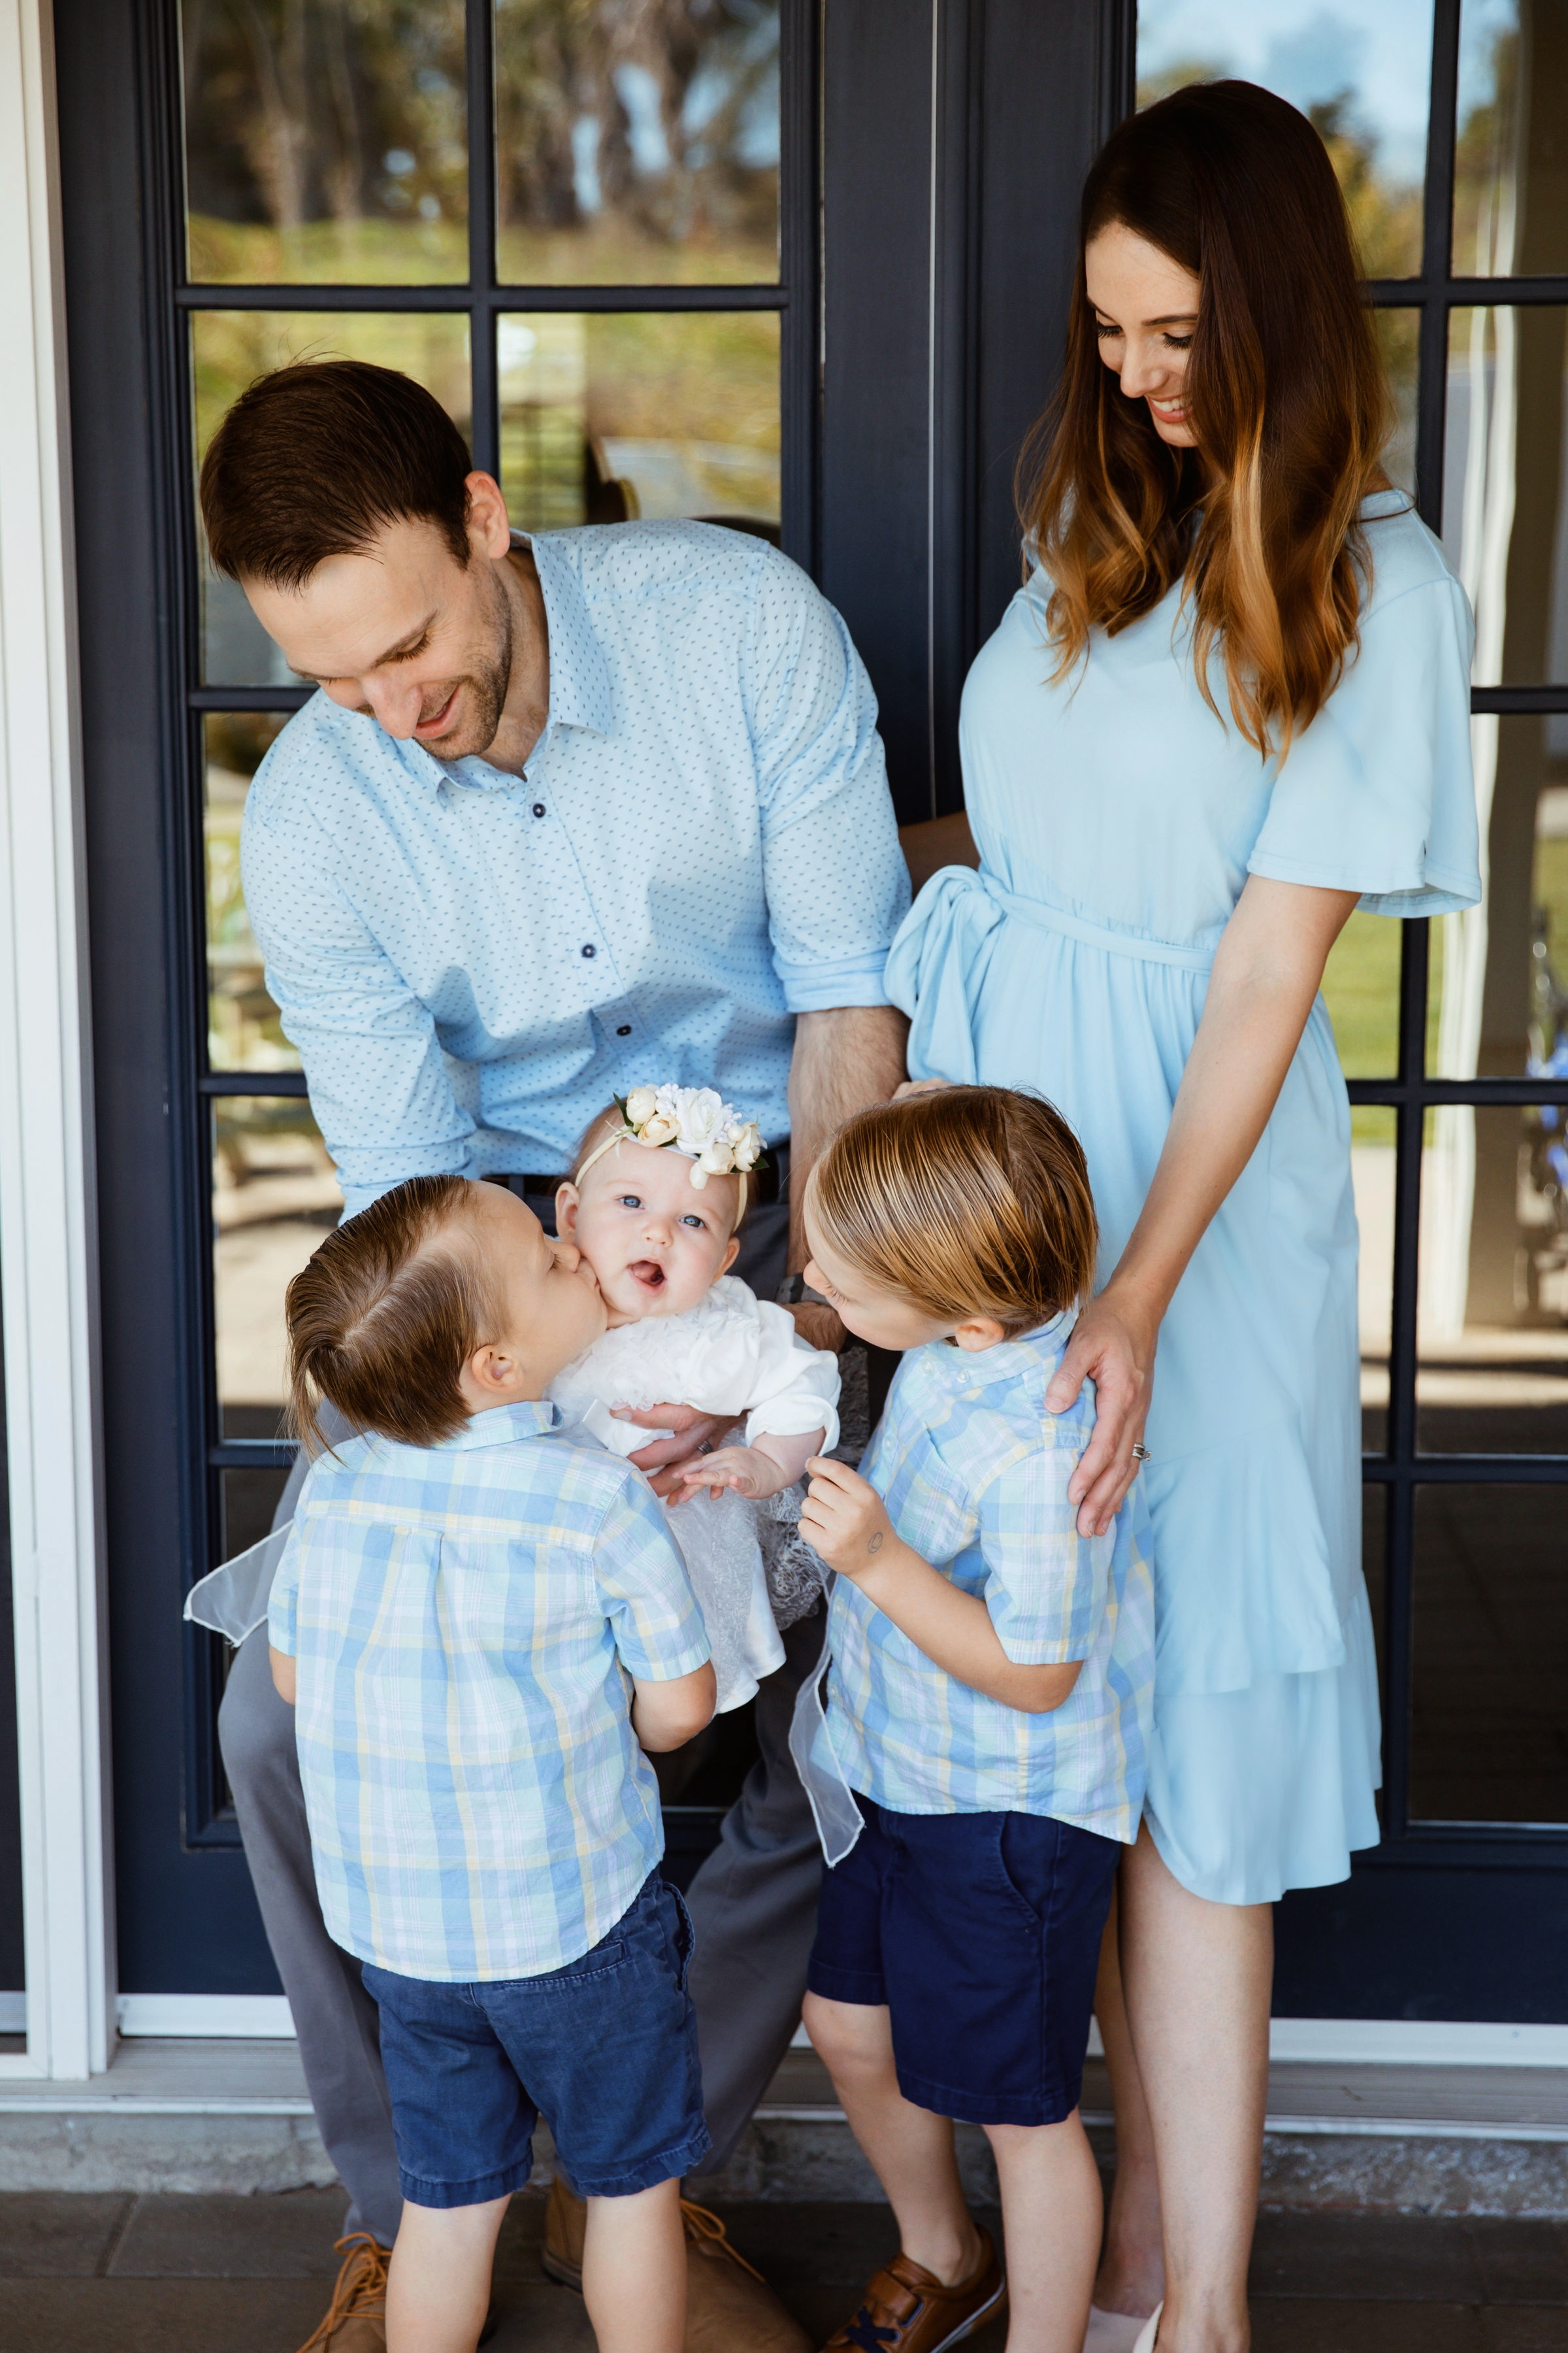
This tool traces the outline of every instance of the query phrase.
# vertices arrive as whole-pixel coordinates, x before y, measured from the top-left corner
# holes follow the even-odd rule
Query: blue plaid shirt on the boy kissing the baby
[[[273,1581],[327,1932],[402,1977],[559,1969],[663,1854],[630,1678],[708,1640],[642,1473],[557,1426],[505,1405],[440,1447],[341,1442]]]

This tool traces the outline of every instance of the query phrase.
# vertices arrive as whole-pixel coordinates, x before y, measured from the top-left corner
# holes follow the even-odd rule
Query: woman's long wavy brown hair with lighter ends
[[[1084,252],[1112,224],[1199,280],[1197,449],[1161,442],[1100,360]],[[1194,82],[1131,115],[1084,186],[1067,367],[1020,468],[1053,675],[1091,628],[1114,635],[1180,579],[1204,699],[1218,713],[1218,647],[1237,727],[1286,753],[1356,647],[1371,581],[1356,511],[1387,487],[1387,428],[1345,198],[1307,118],[1253,82]]]

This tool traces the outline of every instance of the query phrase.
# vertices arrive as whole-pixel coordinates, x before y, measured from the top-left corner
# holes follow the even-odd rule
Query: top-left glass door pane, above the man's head
[[[463,0],[186,0],[197,285],[468,278]]]

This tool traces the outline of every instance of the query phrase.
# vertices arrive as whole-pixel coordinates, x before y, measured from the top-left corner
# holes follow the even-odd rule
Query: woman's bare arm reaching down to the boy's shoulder
[[[1328,951],[1354,904],[1356,892],[1251,875],[1225,925],[1143,1217],[1046,1391],[1048,1409],[1060,1414],[1086,1379],[1095,1384],[1093,1438],[1067,1485],[1084,1537],[1110,1527],[1133,1485],[1159,1325],[1269,1122]]]

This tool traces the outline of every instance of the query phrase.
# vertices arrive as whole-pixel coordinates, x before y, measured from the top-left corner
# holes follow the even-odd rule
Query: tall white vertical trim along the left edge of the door
[[[108,2066],[96,1261],[54,54],[0,0],[0,1268],[28,2049]]]

